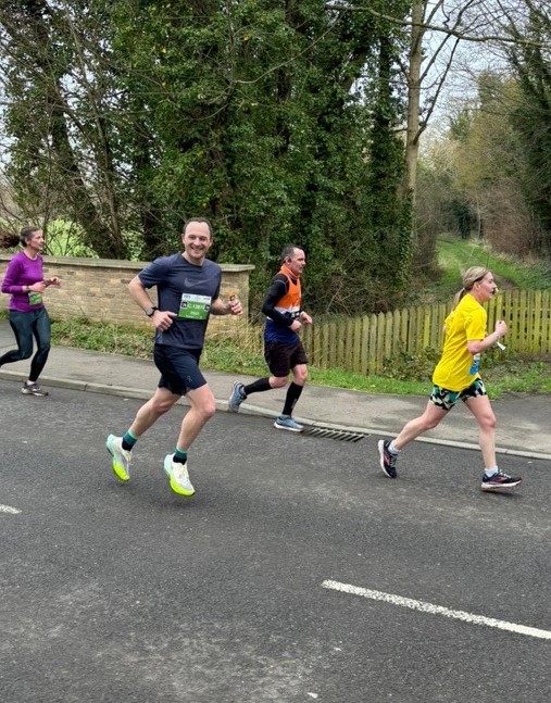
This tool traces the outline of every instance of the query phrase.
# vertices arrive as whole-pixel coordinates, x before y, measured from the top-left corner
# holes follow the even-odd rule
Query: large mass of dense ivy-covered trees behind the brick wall
[[[0,17],[27,210],[75,222],[103,258],[172,252],[184,219],[209,216],[213,258],[255,265],[253,310],[289,242],[306,250],[311,309],[399,299],[412,234],[398,23],[322,0],[43,0]]]

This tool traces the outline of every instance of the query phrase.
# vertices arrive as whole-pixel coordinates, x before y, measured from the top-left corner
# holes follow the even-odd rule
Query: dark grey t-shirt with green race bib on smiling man
[[[146,288],[156,286],[159,310],[178,316],[166,331],[158,331],[155,344],[202,349],[213,300],[220,294],[222,268],[205,259],[201,266],[181,254],[161,256],[138,274]]]

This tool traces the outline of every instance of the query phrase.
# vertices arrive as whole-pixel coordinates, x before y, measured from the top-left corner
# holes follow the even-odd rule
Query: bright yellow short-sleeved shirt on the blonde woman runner
[[[468,353],[467,342],[481,341],[486,337],[486,310],[471,293],[465,293],[448,315],[442,355],[433,374],[436,386],[459,391],[480,378],[478,372],[468,373],[473,354]]]

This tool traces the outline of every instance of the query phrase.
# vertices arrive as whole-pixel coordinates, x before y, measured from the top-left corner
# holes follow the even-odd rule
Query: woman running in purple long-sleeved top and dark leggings
[[[50,318],[42,302],[42,293],[48,286],[59,286],[57,276],[45,280],[42,274],[43,236],[41,229],[24,227],[20,234],[20,251],[8,264],[2,292],[10,293],[10,326],[15,335],[17,349],[0,356],[0,366],[11,364],[33,354],[33,337],[37,352],[30,362],[28,380],[23,384],[26,396],[48,396],[38,385],[38,377],[45,367],[50,352]]]

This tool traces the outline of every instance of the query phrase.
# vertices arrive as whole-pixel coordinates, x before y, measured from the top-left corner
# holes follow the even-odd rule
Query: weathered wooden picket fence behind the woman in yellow
[[[362,317],[316,316],[312,326],[303,327],[302,341],[314,366],[377,374],[385,360],[397,356],[401,350],[412,354],[427,348],[440,351],[443,322],[451,309],[450,301]],[[488,331],[493,330],[497,319],[508,324],[505,353],[551,352],[549,290],[506,290],[490,300],[486,309]]]

